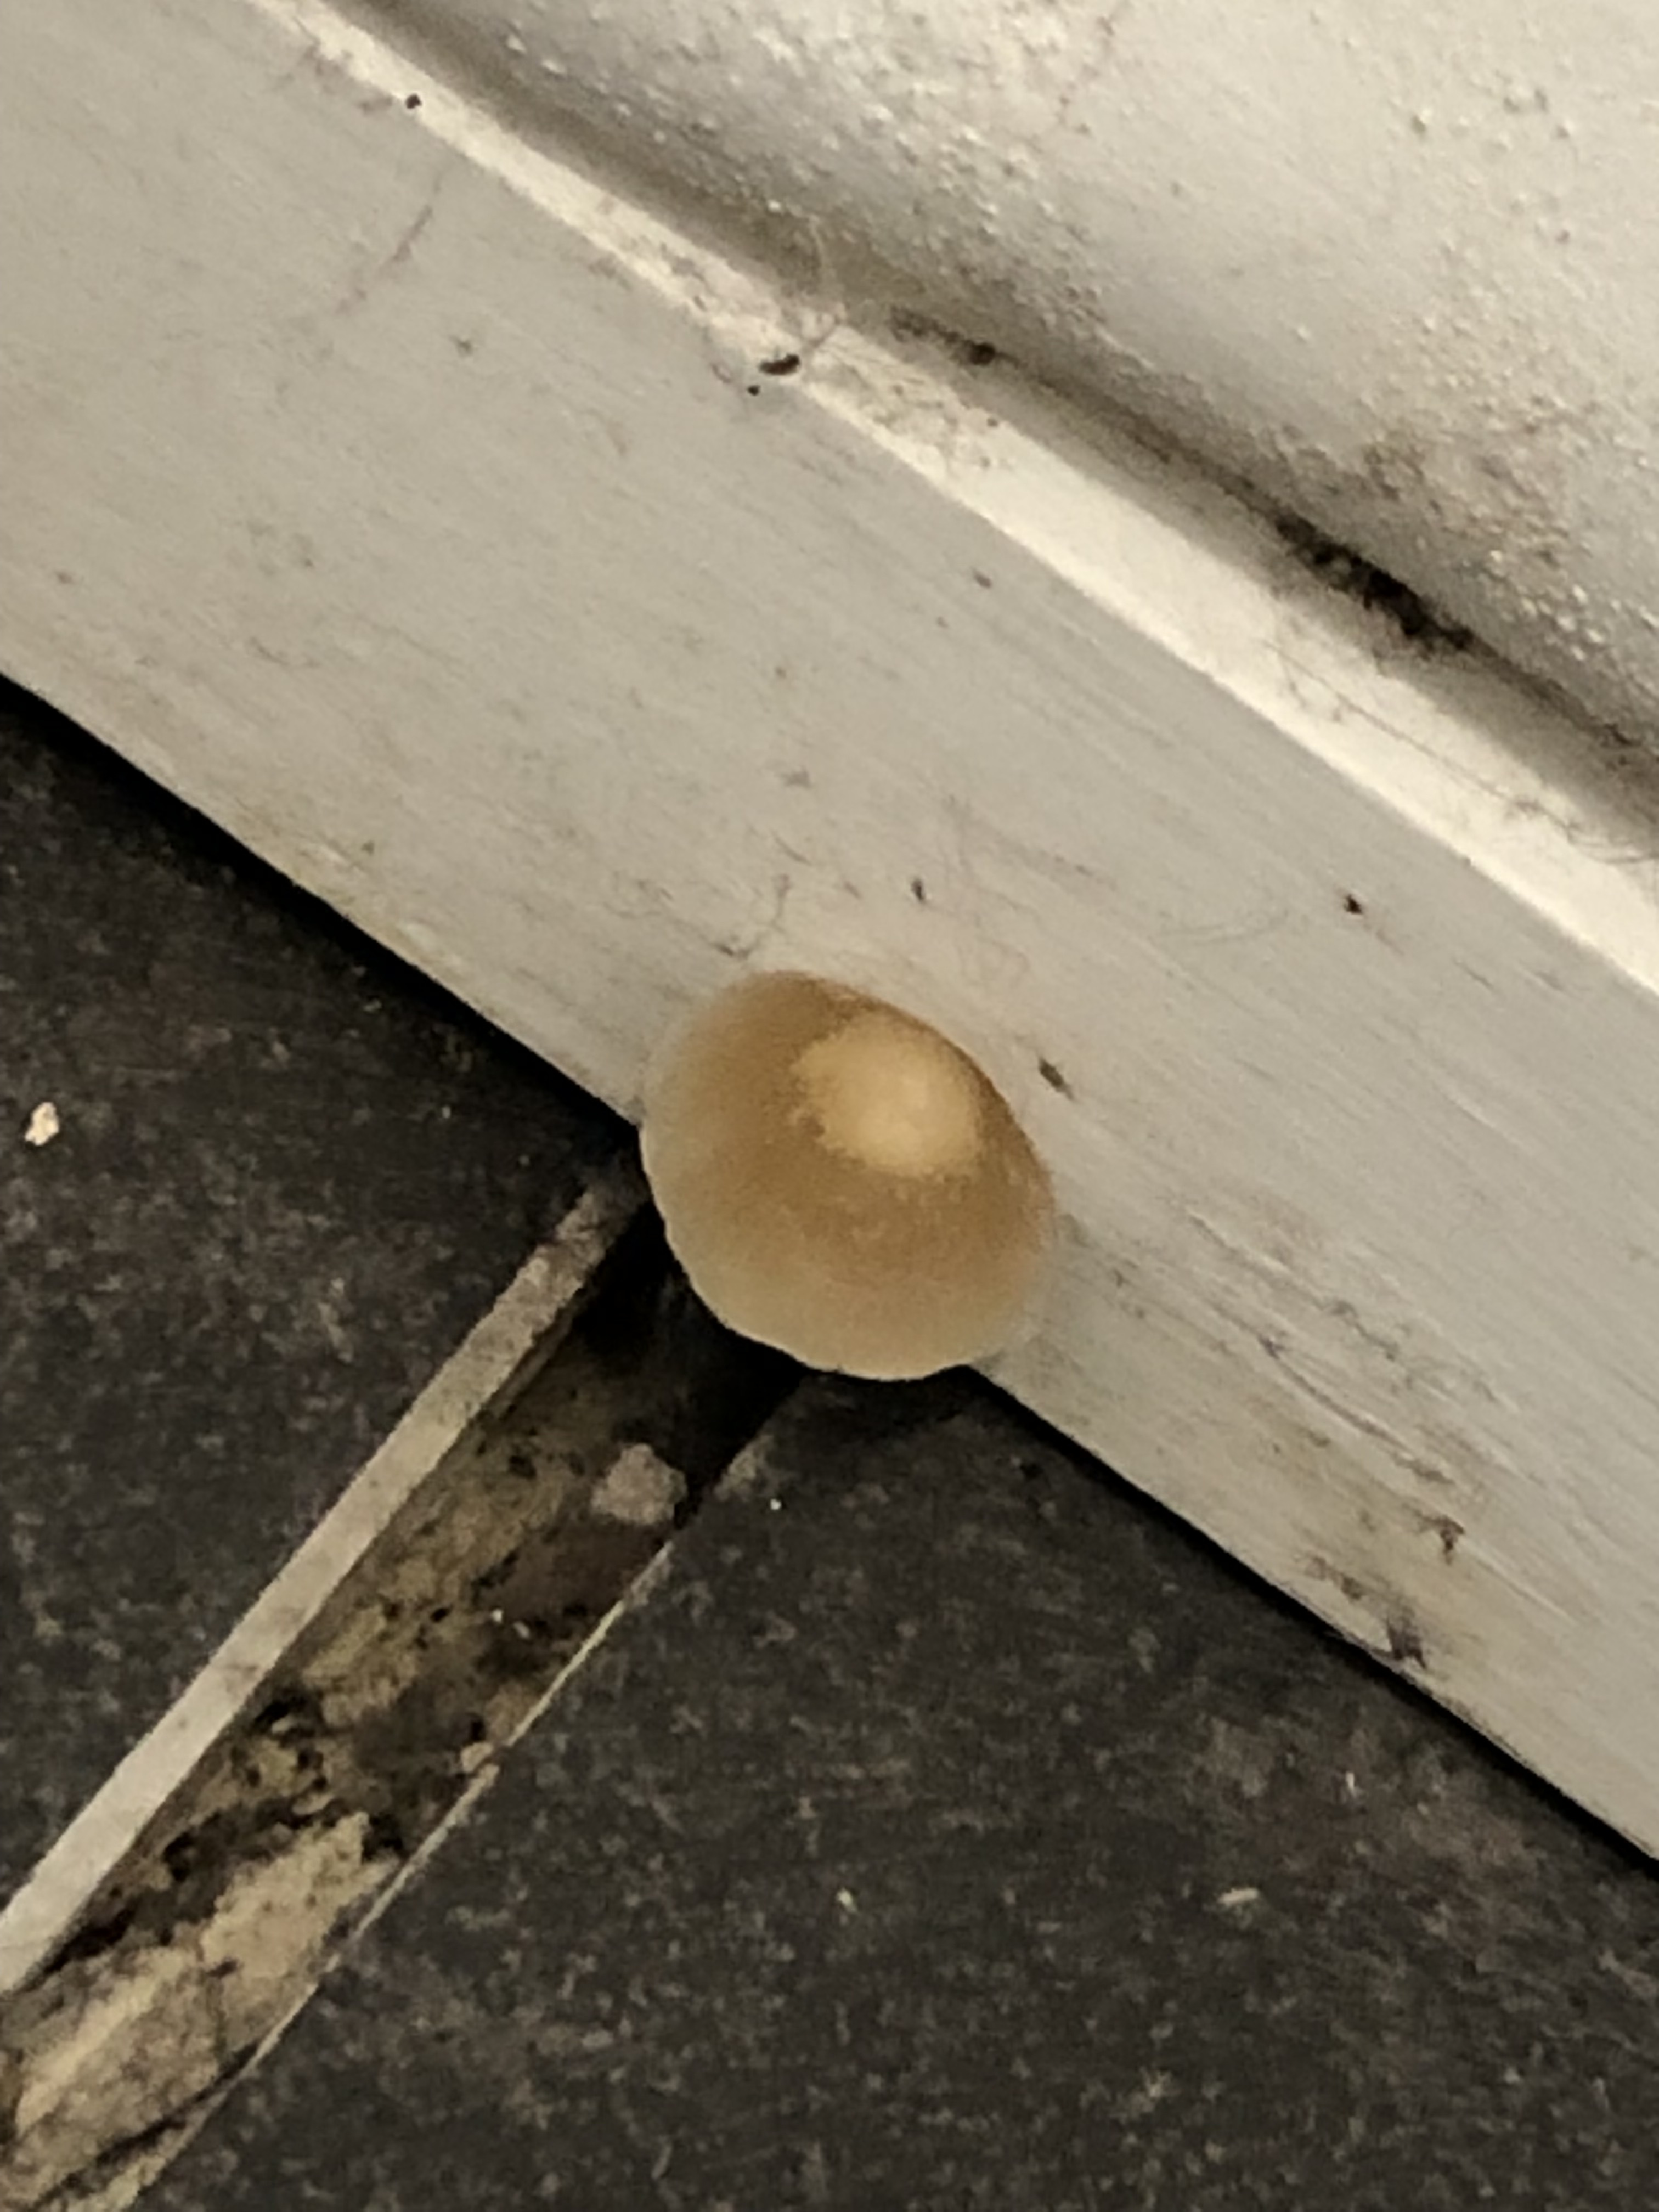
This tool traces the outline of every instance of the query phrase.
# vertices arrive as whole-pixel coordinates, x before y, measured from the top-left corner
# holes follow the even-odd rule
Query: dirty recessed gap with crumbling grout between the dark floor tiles
[[[133,2203],[792,1383],[622,1237],[0,2013],[4,2212]]]

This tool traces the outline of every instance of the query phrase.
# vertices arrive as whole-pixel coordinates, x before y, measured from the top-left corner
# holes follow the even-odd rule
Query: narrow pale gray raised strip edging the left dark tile
[[[597,1263],[639,1203],[637,1181],[617,1170],[575,1201],[208,1663],[49,1845],[0,1911],[0,1997],[20,1991],[75,1931],[122,1860],[347,1575],[467,1440],[484,1407],[507,1402],[557,1349]]]

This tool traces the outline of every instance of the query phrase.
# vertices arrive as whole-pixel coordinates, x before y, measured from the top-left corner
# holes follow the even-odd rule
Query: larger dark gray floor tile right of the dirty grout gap
[[[989,1391],[807,1387],[155,2212],[1637,2212],[1659,1889]]]

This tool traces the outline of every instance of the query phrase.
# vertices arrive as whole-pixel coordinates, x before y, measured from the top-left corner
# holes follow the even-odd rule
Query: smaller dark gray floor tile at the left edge
[[[0,1891],[619,1141],[0,688]]]

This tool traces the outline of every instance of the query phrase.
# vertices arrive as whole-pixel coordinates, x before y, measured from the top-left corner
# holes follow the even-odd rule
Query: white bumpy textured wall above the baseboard
[[[1652,0],[387,0],[1659,739]],[[896,290],[898,288],[898,290]]]

